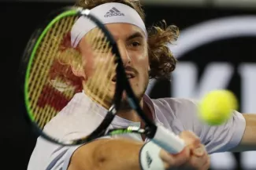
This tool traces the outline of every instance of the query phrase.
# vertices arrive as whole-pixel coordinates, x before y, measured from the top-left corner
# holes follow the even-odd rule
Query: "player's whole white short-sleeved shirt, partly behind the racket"
[[[237,111],[234,111],[232,118],[224,125],[209,126],[198,120],[197,106],[191,99],[150,99],[144,95],[143,100],[150,107],[154,122],[164,125],[176,134],[184,130],[195,132],[201,142],[206,145],[209,154],[230,150],[237,146],[243,137],[246,122],[243,115]],[[87,113],[87,108],[87,96],[83,92],[77,93],[69,104],[46,125],[44,130],[60,138],[86,136],[97,128],[106,114],[106,110],[102,107],[96,106],[97,114]],[[70,112],[70,109],[74,110]],[[138,122],[116,116],[109,128],[129,125],[140,126]],[[143,141],[137,134],[124,136]],[[61,146],[39,137],[30,158],[28,170],[66,170],[72,153],[79,147]]]

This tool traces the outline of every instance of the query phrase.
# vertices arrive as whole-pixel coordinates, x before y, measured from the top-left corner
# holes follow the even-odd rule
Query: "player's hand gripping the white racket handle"
[[[185,131],[180,134],[186,147],[179,154],[169,154],[161,150],[160,157],[164,161],[165,169],[182,168],[206,170],[210,168],[210,157],[200,139],[193,132]]]

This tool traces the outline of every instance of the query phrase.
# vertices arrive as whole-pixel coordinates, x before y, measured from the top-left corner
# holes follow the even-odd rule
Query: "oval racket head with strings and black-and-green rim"
[[[81,72],[80,70],[83,72],[84,64],[81,60],[83,57],[81,52],[77,52],[76,48],[63,49],[64,39],[70,38],[69,33],[72,25],[81,16],[91,20],[97,26],[93,30],[95,32],[83,38],[84,45],[87,45],[87,49],[91,49],[90,55],[94,55],[93,63],[90,63],[90,61],[85,63],[87,63],[87,66],[97,65],[94,74],[86,77],[86,82],[81,81],[78,75],[73,75],[74,72]],[[101,39],[100,42],[95,41],[95,38]],[[106,63],[111,64],[104,62],[98,64],[96,62],[96,60],[100,61],[102,59],[102,53],[108,56],[107,60],[105,59]],[[87,53],[87,55],[89,54]],[[70,56],[72,56],[71,60],[69,59]],[[78,60],[74,60],[74,57]],[[69,62],[65,63],[64,60]],[[20,76],[24,96],[24,113],[30,125],[40,136],[62,145],[87,143],[92,139],[104,136],[121,102],[123,93],[122,75],[117,71],[117,67],[121,69],[118,66],[120,64],[122,67],[121,56],[112,35],[95,16],[90,14],[89,10],[65,7],[52,13],[45,23],[32,34],[21,61]],[[77,68],[76,71],[73,69],[74,66]],[[72,74],[72,76],[70,77],[69,74]],[[117,76],[115,85],[112,84],[114,74]],[[103,75],[106,75],[106,78]],[[99,78],[102,78],[102,80],[98,80]],[[105,85],[102,84],[103,82]],[[103,89],[102,85],[105,88],[114,86],[114,89],[111,92],[101,90]],[[105,93],[105,91],[108,93]],[[98,121],[96,128],[87,135],[72,138],[58,136],[45,130],[45,125],[48,125],[61,110],[64,110],[78,92],[86,92],[90,96],[90,102],[93,101],[94,109],[98,108],[98,104],[102,104],[108,110],[105,119]],[[69,111],[71,113],[76,110]]]

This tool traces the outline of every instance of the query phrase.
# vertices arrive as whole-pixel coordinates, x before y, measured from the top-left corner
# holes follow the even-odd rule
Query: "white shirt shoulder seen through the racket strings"
[[[83,93],[76,94],[68,105],[46,124],[43,131],[60,139],[86,136],[103,119],[100,113],[91,114],[87,111],[92,106],[90,104]]]

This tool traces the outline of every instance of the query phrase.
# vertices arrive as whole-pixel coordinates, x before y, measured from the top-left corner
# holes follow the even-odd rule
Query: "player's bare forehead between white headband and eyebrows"
[[[146,39],[146,36],[143,30],[132,24],[118,23],[118,24],[106,24],[105,26],[115,39],[128,38],[132,34],[136,34],[136,33],[141,34],[142,37]]]

